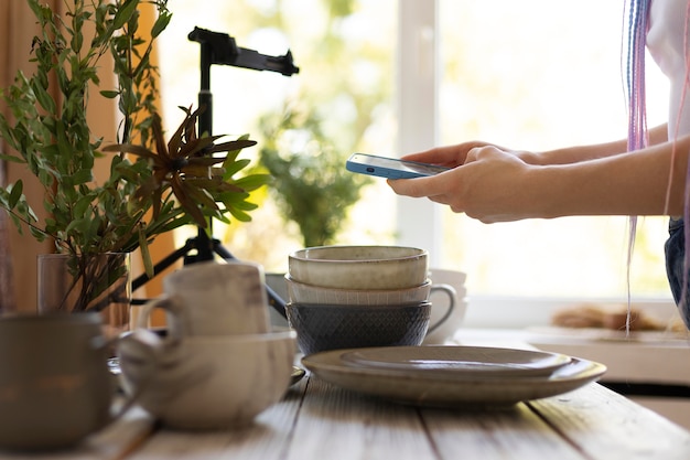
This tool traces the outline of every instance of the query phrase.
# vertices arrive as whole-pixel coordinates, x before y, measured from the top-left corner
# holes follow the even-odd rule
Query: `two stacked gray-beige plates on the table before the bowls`
[[[421,406],[509,406],[595,382],[606,366],[528,350],[386,346],[333,350],[302,359],[331,384]]]

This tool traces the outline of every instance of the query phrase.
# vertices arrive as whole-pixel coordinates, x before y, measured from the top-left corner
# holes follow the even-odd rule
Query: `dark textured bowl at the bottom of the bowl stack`
[[[431,303],[362,307],[290,302],[285,312],[298,333],[300,350],[309,355],[336,349],[419,345],[429,328]]]

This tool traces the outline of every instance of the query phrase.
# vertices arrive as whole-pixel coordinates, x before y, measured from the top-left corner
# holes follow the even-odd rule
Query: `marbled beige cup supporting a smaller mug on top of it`
[[[141,391],[147,411],[171,428],[239,428],[290,386],[297,334],[187,336],[166,344],[152,372],[141,360],[145,347],[123,341],[119,357],[127,387]]]

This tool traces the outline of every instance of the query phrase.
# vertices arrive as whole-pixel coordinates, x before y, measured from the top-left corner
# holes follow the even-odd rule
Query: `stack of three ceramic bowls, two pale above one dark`
[[[302,353],[419,345],[431,313],[429,254],[405,246],[320,246],[289,255],[289,324]]]

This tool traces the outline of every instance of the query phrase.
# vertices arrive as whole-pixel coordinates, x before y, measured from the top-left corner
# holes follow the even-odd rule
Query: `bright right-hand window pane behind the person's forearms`
[[[440,142],[483,139],[539,151],[624,138],[623,3],[441,0]],[[648,62],[655,126],[666,120],[667,89]],[[626,295],[627,217],[483,225],[442,215],[444,263],[471,272],[475,292]],[[669,296],[666,227],[662,217],[639,220],[636,296]]]

